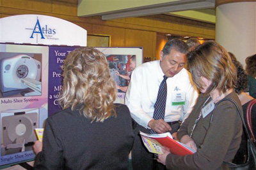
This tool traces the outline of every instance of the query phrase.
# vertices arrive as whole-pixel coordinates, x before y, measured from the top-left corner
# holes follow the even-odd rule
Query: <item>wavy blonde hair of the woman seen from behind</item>
[[[68,54],[62,69],[62,108],[78,109],[92,122],[116,117],[116,85],[102,52],[92,47],[76,48]]]

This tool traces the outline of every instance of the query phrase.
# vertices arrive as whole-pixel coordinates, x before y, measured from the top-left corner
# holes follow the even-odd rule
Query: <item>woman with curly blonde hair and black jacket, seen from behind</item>
[[[108,62],[95,48],[76,48],[63,65],[63,110],[47,118],[36,141],[35,169],[129,169],[132,119],[114,104],[116,85]]]

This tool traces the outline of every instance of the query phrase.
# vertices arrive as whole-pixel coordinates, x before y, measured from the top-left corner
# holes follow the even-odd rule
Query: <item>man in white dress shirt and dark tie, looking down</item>
[[[188,45],[179,39],[169,40],[160,53],[160,60],[146,62],[134,69],[125,104],[135,120],[135,140],[132,148],[132,169],[159,169],[153,164],[153,154],[143,146],[139,132],[177,132],[188,117],[198,97],[190,73],[184,68]],[[164,120],[154,120],[159,85],[167,76],[167,97]],[[164,167],[163,167],[164,168]]]

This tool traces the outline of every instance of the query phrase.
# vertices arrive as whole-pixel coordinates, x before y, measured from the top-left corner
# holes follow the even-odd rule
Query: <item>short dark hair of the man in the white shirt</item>
[[[168,55],[171,52],[171,50],[173,50],[173,49],[180,53],[188,53],[188,45],[184,41],[182,41],[180,39],[170,39],[164,45],[163,57],[165,55]]]

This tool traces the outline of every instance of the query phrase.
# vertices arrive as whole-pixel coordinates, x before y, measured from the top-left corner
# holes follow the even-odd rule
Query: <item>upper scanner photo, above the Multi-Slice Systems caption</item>
[[[24,54],[0,60],[0,91],[3,97],[17,94],[22,96],[41,95],[41,62]],[[27,90],[28,91],[28,90]]]

